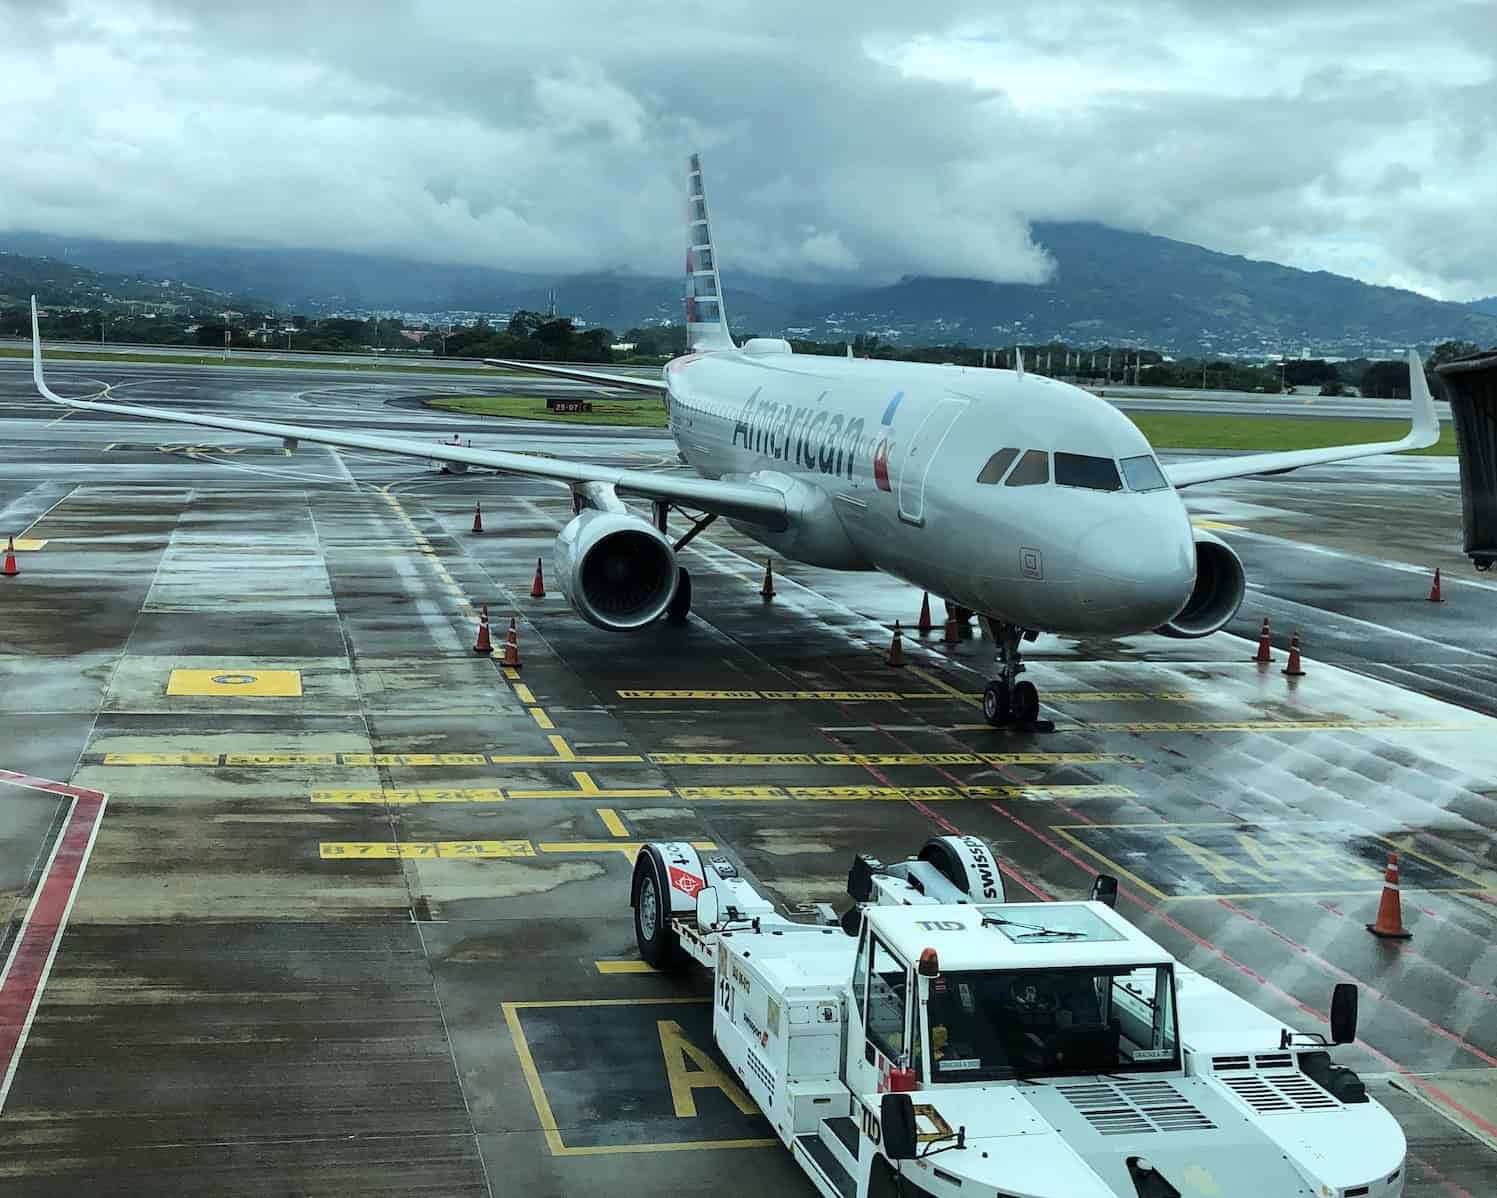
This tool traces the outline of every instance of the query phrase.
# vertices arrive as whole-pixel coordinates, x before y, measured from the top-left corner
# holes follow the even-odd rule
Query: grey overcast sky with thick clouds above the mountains
[[[10,229],[668,274],[699,148],[763,273],[1100,220],[1497,294],[1493,0],[0,0],[0,111]]]

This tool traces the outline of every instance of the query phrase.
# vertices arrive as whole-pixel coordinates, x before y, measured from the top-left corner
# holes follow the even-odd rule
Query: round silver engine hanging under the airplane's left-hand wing
[[[675,550],[636,515],[582,512],[561,530],[552,560],[567,600],[597,627],[644,627],[675,596]]]

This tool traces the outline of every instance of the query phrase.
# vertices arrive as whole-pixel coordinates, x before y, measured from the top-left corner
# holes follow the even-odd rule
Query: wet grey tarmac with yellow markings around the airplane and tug
[[[674,461],[648,431],[403,406],[516,392],[500,379],[52,373]],[[611,635],[528,598],[561,488],[60,419],[12,362],[0,445],[0,532],[27,547],[0,590],[0,770],[108,794],[0,1078],[4,1194],[808,1195],[714,1074],[704,979],[638,969],[632,854],[714,843],[795,906],[841,901],[855,851],[954,830],[990,837],[1021,897],[1118,873],[1130,918],[1286,1023],[1362,982],[1341,1057],[1409,1132],[1407,1194],[1493,1189],[1497,587],[1461,557],[1451,461],[1190,491],[1247,563],[1238,635],[1042,638],[1028,677],[1058,728],[1024,738],[981,723],[981,636],[913,636],[891,669],[918,593],[775,560],[766,602],[763,553],[719,527],[683,557],[690,623]],[[518,675],[472,651],[481,603],[515,615]],[[13,779],[0,800],[9,946],[81,800]],[[1389,849],[1404,943],[1362,928]]]

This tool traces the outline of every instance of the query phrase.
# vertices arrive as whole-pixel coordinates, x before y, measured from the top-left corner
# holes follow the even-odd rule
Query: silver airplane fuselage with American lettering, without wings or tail
[[[1144,632],[1190,598],[1184,505],[1138,463],[1153,464],[1144,434],[1087,391],[1007,370],[787,352],[692,353],[665,377],[690,466],[786,493],[789,532],[735,527],[787,557],[883,571],[1046,632]],[[1001,451],[1013,452],[994,461]],[[1046,478],[1024,484],[1036,451]],[[1031,458],[1022,478],[1037,469]],[[1117,490],[1102,490],[1109,475]]]

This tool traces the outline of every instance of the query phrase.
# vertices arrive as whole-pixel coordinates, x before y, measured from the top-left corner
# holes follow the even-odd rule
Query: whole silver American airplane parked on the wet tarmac
[[[67,400],[42,376],[31,301],[33,373],[66,407],[352,449],[481,466],[572,488],[576,517],[555,566],[576,611],[599,627],[684,620],[680,551],[719,517],[784,557],[883,571],[984,617],[998,672],[984,692],[996,726],[1036,728],[1039,693],[1019,681],[1019,645],[1040,632],[1207,636],[1243,602],[1243,563],[1192,529],[1178,488],[1400,449],[1440,434],[1419,356],[1409,353],[1413,419],[1392,442],[1243,454],[1160,466],[1144,434],[1088,391],[1024,371],[799,355],[787,341],[734,344],[723,310],[698,156],[687,168],[689,353],[648,379],[537,362],[539,371],[665,400],[671,434],[698,476],[618,470],[530,454],[434,446],[307,425]],[[653,520],[621,496],[651,502]],[[668,512],[689,515],[678,538]],[[699,515],[696,515],[699,514]]]

